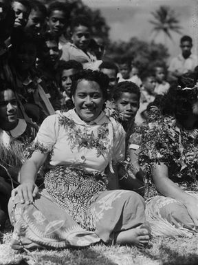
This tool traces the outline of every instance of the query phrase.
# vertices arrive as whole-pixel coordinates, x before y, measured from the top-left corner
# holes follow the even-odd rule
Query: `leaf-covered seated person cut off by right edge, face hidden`
[[[153,235],[190,236],[198,226],[198,100],[194,76],[181,76],[157,105],[160,110],[151,108],[140,147],[147,180],[146,218]]]

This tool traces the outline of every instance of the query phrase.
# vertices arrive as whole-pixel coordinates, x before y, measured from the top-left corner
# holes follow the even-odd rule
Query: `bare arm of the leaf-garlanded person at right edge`
[[[182,191],[175,182],[168,178],[168,167],[161,163],[155,165],[152,172],[157,191],[166,197],[173,198],[186,206],[192,221],[198,226],[198,200],[185,191]]]

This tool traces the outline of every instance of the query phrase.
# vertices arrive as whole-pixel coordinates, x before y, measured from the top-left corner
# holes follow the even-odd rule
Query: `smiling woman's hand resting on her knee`
[[[39,188],[33,181],[23,182],[16,189],[12,190],[11,196],[12,200],[14,200],[15,195],[19,195],[19,199],[21,200],[21,204],[32,204],[33,198],[36,197],[36,194],[39,193]]]

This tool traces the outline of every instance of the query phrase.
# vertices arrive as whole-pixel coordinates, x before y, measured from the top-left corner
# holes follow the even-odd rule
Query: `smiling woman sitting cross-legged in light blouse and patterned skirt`
[[[13,248],[148,243],[143,198],[118,190],[124,130],[102,112],[107,86],[104,74],[83,70],[72,83],[75,108],[43,121],[12,191]],[[39,191],[36,173],[44,162],[45,189]]]

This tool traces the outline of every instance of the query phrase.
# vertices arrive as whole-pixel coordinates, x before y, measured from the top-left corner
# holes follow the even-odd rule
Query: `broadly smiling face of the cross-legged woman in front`
[[[87,81],[85,79],[78,82],[72,100],[78,116],[86,122],[95,120],[104,105],[104,97],[100,85],[95,81]]]

